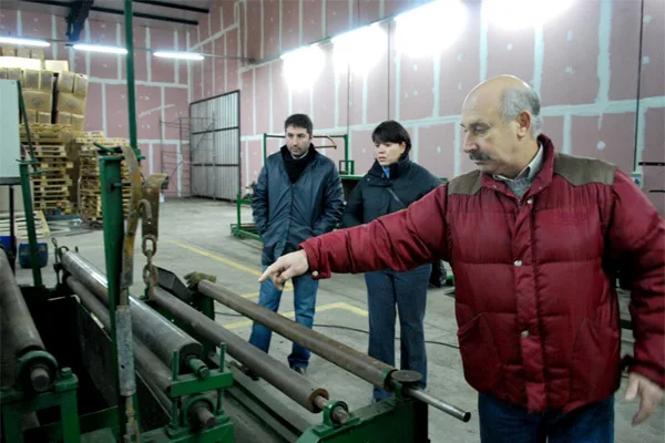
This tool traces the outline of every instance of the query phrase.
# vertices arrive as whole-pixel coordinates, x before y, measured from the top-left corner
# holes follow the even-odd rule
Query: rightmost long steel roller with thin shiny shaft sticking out
[[[237,293],[223,288],[219,285],[203,280],[198,284],[198,291],[222,305],[249,317],[278,334],[306,347],[311,352],[346,369],[374,385],[389,389],[393,388],[395,381],[391,380],[390,373],[397,371],[397,369],[389,364],[382,363],[347,347],[346,344],[332,340],[320,332],[282,317],[269,309],[242,298]],[[415,399],[426,402],[458,420],[467,422],[471,416],[469,412],[428,395],[418,388],[408,388],[407,392]]]

